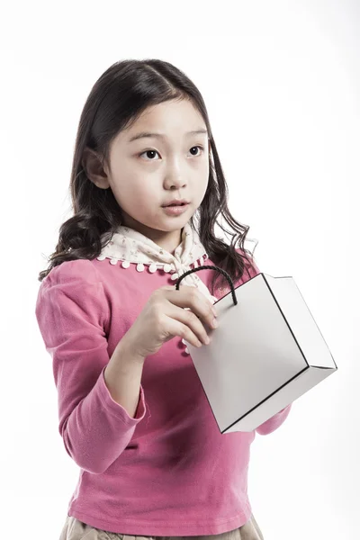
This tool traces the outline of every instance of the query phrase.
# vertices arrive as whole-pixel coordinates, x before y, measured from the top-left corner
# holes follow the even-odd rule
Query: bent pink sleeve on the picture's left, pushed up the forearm
[[[91,261],[67,261],[40,284],[36,318],[52,358],[58,391],[58,431],[67,454],[89,473],[103,473],[129,444],[146,413],[139,391],[135,418],[107,389],[105,328],[110,317]]]

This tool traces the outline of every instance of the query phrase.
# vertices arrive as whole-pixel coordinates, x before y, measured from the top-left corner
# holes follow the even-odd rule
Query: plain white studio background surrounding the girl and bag
[[[113,62],[161,58],[202,92],[260,271],[293,275],[338,365],[257,435],[257,522],[266,540],[358,538],[360,3],[18,2],[1,18],[2,536],[58,540],[77,481],[34,314],[77,122]]]

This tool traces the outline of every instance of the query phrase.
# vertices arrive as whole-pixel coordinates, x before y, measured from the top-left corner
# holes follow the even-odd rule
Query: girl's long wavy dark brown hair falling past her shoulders
[[[60,226],[55,252],[48,257],[49,267],[40,272],[39,281],[53,267],[65,261],[98,257],[102,247],[121,224],[121,207],[112,189],[98,188],[85,173],[82,163],[85,148],[93,149],[102,164],[109,166],[112,139],[121,130],[130,127],[148,106],[173,99],[188,99],[193,103],[206,124],[211,146],[207,191],[202,204],[190,219],[190,225],[195,228],[194,221],[198,220],[196,230],[203,247],[211,261],[225,270],[233,282],[244,273],[247,266],[244,259],[251,265],[247,257],[250,252],[244,247],[249,227],[238,223],[229,212],[228,186],[212,138],[202,94],[183,71],[166,61],[157,58],[127,59],[106,69],[95,82],[85,102],[76,134],[69,186],[73,215]],[[217,220],[220,215],[230,230],[224,229]],[[215,236],[215,222],[220,229],[231,235],[230,246]],[[241,254],[236,251],[236,247],[241,249]],[[211,294],[214,294],[218,280],[219,286],[229,285],[225,276],[219,272],[211,274]]]

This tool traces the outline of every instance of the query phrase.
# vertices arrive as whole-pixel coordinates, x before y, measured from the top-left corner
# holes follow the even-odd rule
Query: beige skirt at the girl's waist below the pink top
[[[253,515],[247,523],[228,533],[211,536],[131,536],[111,533],[86,525],[72,516],[67,516],[59,540],[264,540],[257,521]]]

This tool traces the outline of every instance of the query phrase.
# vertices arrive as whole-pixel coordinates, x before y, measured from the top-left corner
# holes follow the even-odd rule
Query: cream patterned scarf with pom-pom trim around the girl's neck
[[[174,255],[157,246],[137,230],[120,225],[97,257],[99,261],[105,258],[109,258],[112,265],[117,265],[121,261],[123,268],[129,268],[130,263],[136,264],[138,272],[143,272],[146,265],[150,273],[161,269],[172,273],[171,279],[175,281],[188,270],[202,266],[209,256],[202,246],[198,233],[187,222],[184,225],[181,243],[176,247]],[[182,284],[198,287],[211,303],[216,302],[217,298],[211,295],[200,274],[201,272],[193,272],[186,275],[180,282],[180,287]]]

